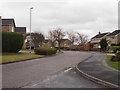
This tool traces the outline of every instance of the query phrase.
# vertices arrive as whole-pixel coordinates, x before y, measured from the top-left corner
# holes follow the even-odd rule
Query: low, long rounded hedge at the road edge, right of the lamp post
[[[38,55],[52,55],[52,54],[56,54],[57,49],[56,48],[36,48],[34,52],[35,54],[38,54]]]

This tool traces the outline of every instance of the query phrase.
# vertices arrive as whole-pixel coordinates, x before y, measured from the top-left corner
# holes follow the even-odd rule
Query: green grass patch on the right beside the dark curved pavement
[[[111,61],[112,55],[107,55],[107,64],[115,69],[120,70],[120,62]]]

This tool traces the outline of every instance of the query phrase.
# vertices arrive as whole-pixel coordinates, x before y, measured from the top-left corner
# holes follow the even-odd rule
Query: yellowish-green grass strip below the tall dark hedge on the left
[[[38,57],[44,57],[44,55],[7,53],[0,56],[0,63],[10,63]]]

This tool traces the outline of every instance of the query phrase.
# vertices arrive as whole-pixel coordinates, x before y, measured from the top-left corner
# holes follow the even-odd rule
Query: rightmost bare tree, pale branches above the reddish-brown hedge
[[[78,45],[83,45],[88,41],[88,36],[77,32],[77,42]]]

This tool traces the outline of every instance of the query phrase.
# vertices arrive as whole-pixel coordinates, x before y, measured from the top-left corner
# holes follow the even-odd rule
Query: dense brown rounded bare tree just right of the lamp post
[[[44,41],[45,37],[42,33],[31,33],[31,40],[32,43],[34,44],[35,48],[39,46],[39,44],[42,44]]]

